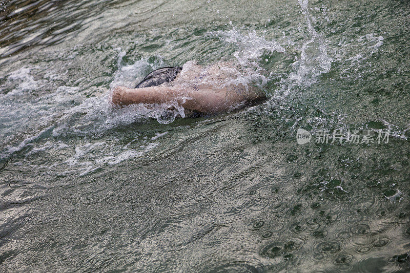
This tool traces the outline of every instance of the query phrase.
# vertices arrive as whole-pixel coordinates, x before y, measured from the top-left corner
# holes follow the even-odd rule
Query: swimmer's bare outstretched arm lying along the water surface
[[[230,92],[230,90],[232,91]],[[113,92],[112,102],[118,106],[133,103],[166,103],[176,100],[185,109],[201,113],[226,112],[246,101],[258,99],[253,91],[246,91],[244,86],[229,88],[181,88],[148,87],[130,89],[118,87]]]

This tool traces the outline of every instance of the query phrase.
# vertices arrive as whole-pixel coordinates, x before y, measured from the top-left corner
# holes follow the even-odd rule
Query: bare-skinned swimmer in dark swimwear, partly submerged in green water
[[[186,110],[211,114],[228,112],[265,98],[257,87],[235,81],[238,73],[232,62],[203,67],[188,61],[183,67],[151,72],[134,89],[116,87],[112,102],[124,107],[173,101]]]

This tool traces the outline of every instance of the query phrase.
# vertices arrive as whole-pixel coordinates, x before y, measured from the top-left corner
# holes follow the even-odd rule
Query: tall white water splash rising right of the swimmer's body
[[[280,76],[280,85],[273,97],[284,97],[293,93],[298,87],[309,87],[317,82],[318,76],[327,73],[331,69],[332,58],[327,54],[327,47],[324,38],[312,25],[312,18],[308,10],[308,0],[298,0],[302,14],[305,18],[306,34],[302,46],[296,51],[300,51],[300,57],[291,65],[291,71],[285,77]],[[260,82],[263,87],[274,77],[278,77],[275,71],[266,73],[260,67],[262,56],[273,54],[274,52],[287,53],[282,45],[275,40],[267,40],[264,35],[258,36],[256,31],[250,31],[247,35],[242,34],[235,27],[230,31],[215,31],[209,35],[216,36],[226,43],[236,47],[233,56],[238,61],[245,72],[238,77],[238,82],[254,83]],[[294,46],[294,41],[286,41],[286,45]],[[269,61],[268,58],[265,61]],[[271,96],[271,94],[267,94]]]

